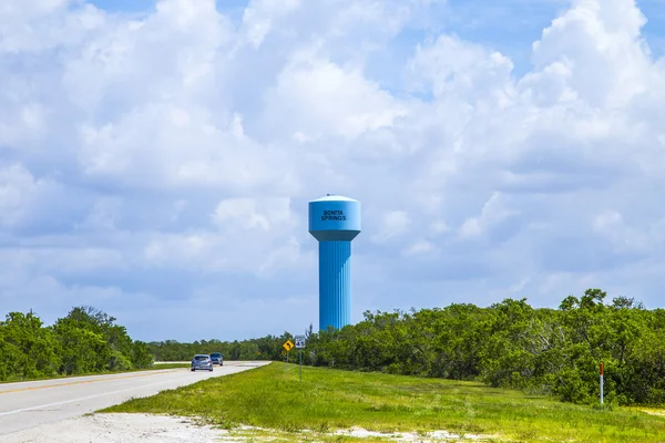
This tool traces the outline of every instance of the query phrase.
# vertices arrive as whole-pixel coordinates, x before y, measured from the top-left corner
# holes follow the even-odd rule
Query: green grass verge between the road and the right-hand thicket
[[[323,368],[303,368],[300,382],[298,367],[286,371],[283,363],[204,380],[101,412],[198,416],[227,429],[246,424],[291,433],[361,426],[381,432],[447,430],[519,442],[665,437],[665,418],[634,409],[573,405],[477,382]]]

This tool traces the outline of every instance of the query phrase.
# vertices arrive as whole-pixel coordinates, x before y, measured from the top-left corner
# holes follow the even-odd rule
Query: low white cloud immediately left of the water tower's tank
[[[285,269],[311,269],[315,258],[300,244],[304,235],[297,229],[304,223],[296,219],[289,198],[223,199],[209,219],[215,230],[152,234],[142,250],[145,264],[156,269],[262,278]]]

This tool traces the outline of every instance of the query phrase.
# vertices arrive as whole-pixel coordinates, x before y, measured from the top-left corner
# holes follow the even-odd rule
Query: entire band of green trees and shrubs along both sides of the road
[[[566,297],[557,309],[505,299],[487,308],[453,303],[409,312],[365,312],[339,331],[305,331],[304,363],[428,379],[474,380],[492,388],[551,394],[577,404],[665,405],[665,310],[647,310],[600,289]],[[150,368],[222,352],[225,360],[282,360],[293,334],[223,342],[143,343],[113,317],[73,308],[44,327],[34,313],[0,322],[0,381]],[[291,361],[297,354],[291,351]]]

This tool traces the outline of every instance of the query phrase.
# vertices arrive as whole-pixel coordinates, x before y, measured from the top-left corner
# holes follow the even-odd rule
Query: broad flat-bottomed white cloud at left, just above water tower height
[[[286,154],[243,134],[239,121],[200,107],[149,104],[120,122],[83,126],[79,162],[91,178],[123,177],[134,186],[291,190]],[[256,162],[256,158],[263,158]]]

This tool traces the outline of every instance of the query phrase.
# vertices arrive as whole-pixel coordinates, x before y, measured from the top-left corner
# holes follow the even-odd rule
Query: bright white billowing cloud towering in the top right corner
[[[646,87],[651,61],[640,32],[645,22],[633,0],[575,0],[533,44],[536,70],[560,63],[570,69],[566,84],[580,99],[623,106]]]

